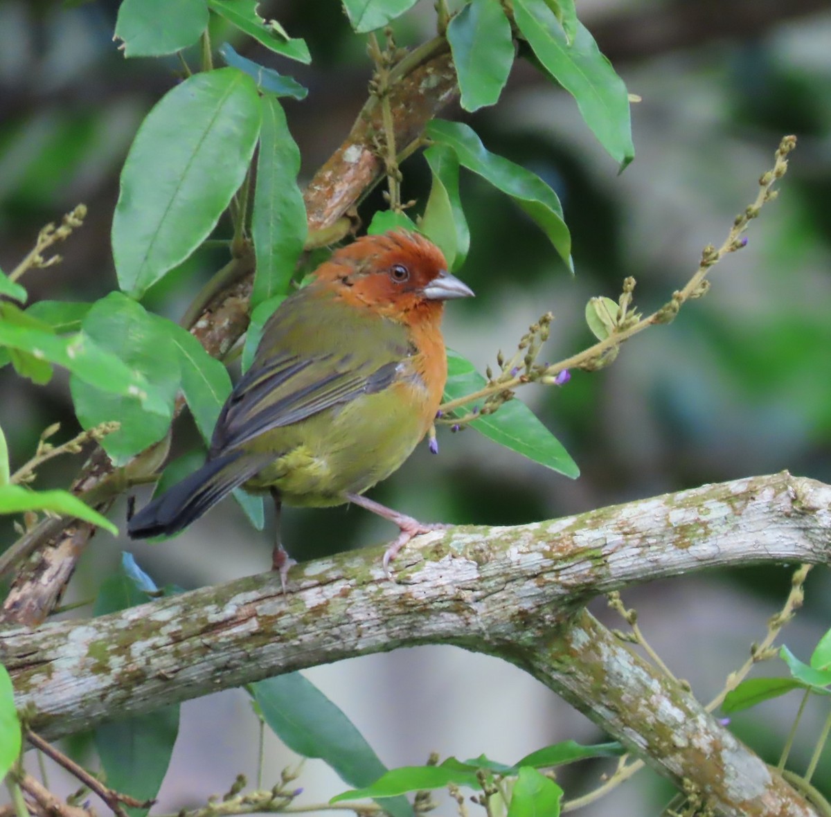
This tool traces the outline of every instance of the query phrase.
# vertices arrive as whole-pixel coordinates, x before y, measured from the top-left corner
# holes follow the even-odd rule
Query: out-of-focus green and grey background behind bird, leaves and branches
[[[101,0],[77,7],[0,0],[0,267],[14,267],[42,224],[79,202],[90,211],[85,227],[59,249],[63,263],[27,274],[32,300],[94,300],[115,288],[109,231],[120,165],[142,116],[175,83],[175,59],[121,57],[111,42],[117,7]],[[364,41],[335,0],[263,2],[260,12],[305,37],[312,52],[312,65],[300,66],[256,43],[234,42],[243,55],[309,88],[306,101],[285,101],[308,180],[347,135],[366,97]],[[573,233],[576,268],[571,278],[524,214],[465,176],[472,247],[460,276],[478,297],[450,304],[450,347],[484,368],[499,348],[512,351],[529,323],[550,309],[556,319],[544,359],[568,357],[593,341],[583,319],[588,298],[617,298],[627,275],[637,278],[639,308],[656,308],[686,283],[704,245],[724,239],[772,166],[780,137],[794,133],[799,146],[779,199],[751,224],[747,248],[712,271],[706,298],[689,303],[670,326],[627,343],[602,372],[573,372],[563,388],[520,393],[578,462],[579,480],[501,450],[475,431],[445,429],[438,457],[421,446],[372,495],[423,519],[518,524],[782,469],[831,481],[829,3],[592,0],[578,3],[578,13],[629,91],[642,97],[632,110],[636,160],[617,175],[573,100],[521,62],[498,106],[475,116],[445,114],[463,117],[489,150],[553,185]],[[432,4],[421,0],[396,34],[402,45],[414,45],[434,25]],[[222,32],[214,34],[219,45]],[[425,161],[413,157],[403,170],[405,199],[423,206],[430,184]],[[376,191],[361,209],[365,222],[381,206]],[[146,303],[178,319],[222,263],[222,253],[198,253]],[[65,377],[35,387],[9,367],[0,370],[0,425],[12,468],[55,421],[61,421],[58,440],[77,431]],[[196,443],[189,421],[180,422],[175,449]],[[66,485],[78,465],[56,462],[39,485]],[[124,513],[120,505],[113,515],[122,528]],[[299,559],[392,533],[360,509],[289,510],[284,524],[284,541]],[[0,543],[11,539],[9,527],[0,526]],[[252,532],[229,501],[168,544],[126,544],[99,534],[69,598],[90,597],[125,547],[159,583],[184,587],[258,572],[270,551],[268,534]],[[764,635],[788,586],[789,569],[771,565],[656,583],[624,599],[641,611],[653,646],[706,700]],[[602,600],[594,607],[621,626]],[[807,660],[829,628],[829,613],[828,572],[817,568],[804,612],[784,633],[799,657]],[[485,751],[512,762],[548,742],[600,737],[513,667],[450,647],[344,662],[310,677],[390,765],[423,762],[433,749],[458,756]],[[210,700],[189,705],[209,706],[212,716],[183,724],[163,789],[171,807],[198,802],[253,763],[250,734],[222,726],[239,721],[244,701],[234,693]],[[797,703],[787,698],[757,707],[736,716],[733,728],[775,761]],[[797,765],[809,755],[817,718],[806,718]],[[206,740],[217,741],[210,762],[199,755]],[[283,755],[272,751],[279,765]],[[602,768],[565,775],[567,794],[588,789]],[[815,778],[826,795],[829,771],[831,757]],[[320,775],[319,790],[307,773]],[[312,765],[301,782],[315,800],[340,790]],[[653,778],[629,783],[583,813],[657,814],[668,797]]]

